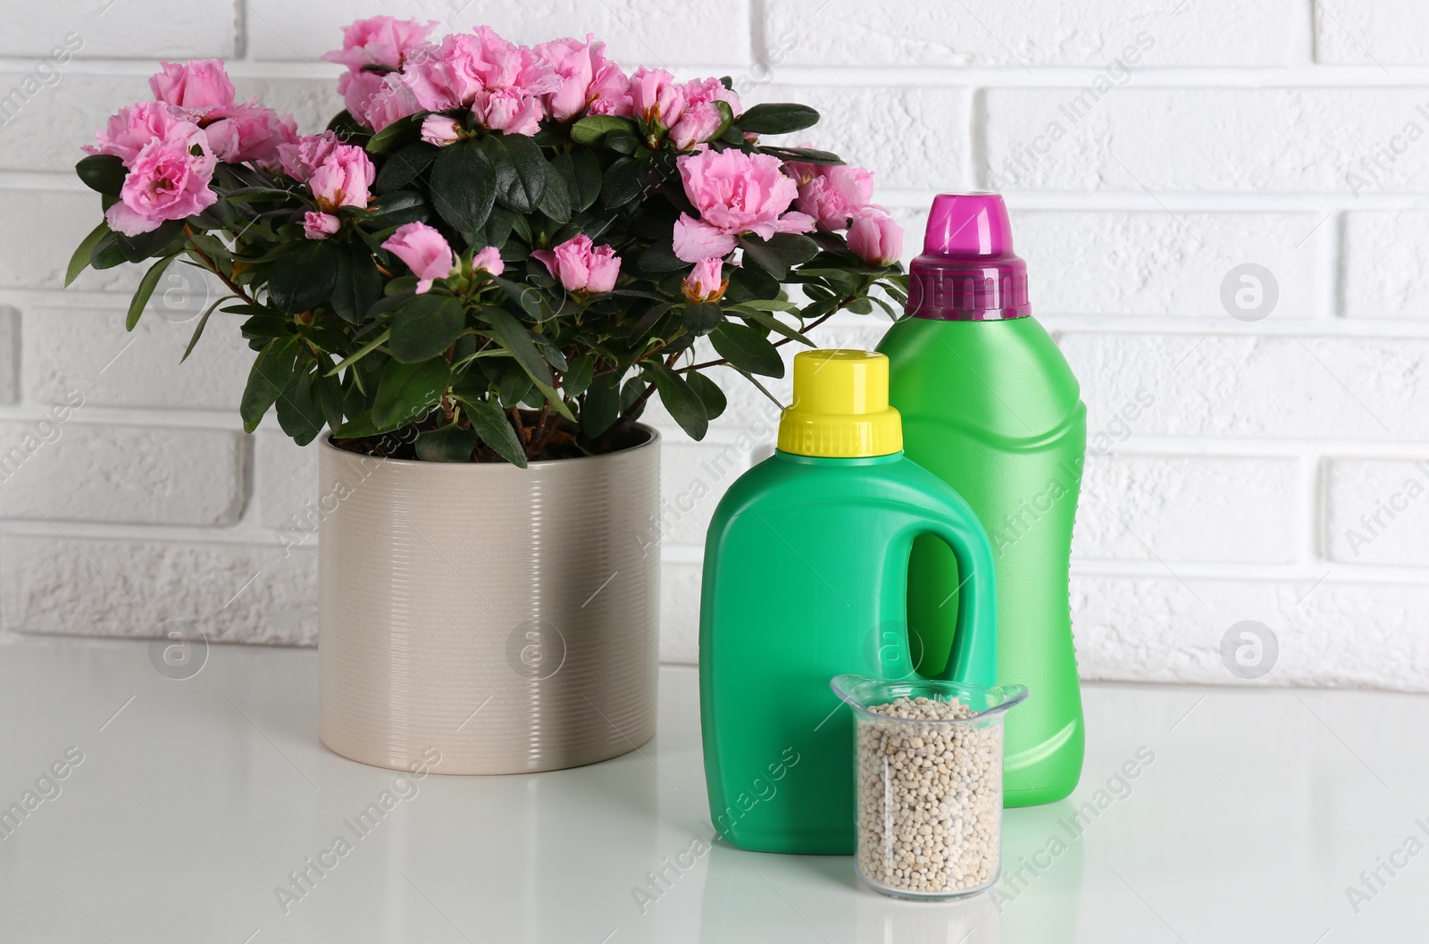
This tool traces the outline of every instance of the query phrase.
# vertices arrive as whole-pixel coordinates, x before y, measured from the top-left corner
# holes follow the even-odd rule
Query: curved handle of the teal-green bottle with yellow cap
[[[939,680],[990,688],[997,684],[997,576],[987,531],[970,506],[947,508],[916,526],[917,534],[935,534],[957,558],[957,624],[953,651]],[[905,561],[906,567],[906,561]]]

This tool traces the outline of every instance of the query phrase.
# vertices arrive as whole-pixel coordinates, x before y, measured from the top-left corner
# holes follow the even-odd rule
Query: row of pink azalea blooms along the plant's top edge
[[[347,66],[339,90],[347,111],[376,131],[419,111],[470,110],[482,127],[534,134],[540,121],[587,114],[642,116],[682,150],[710,140],[723,123],[716,101],[739,111],[739,97],[717,79],[679,84],[664,70],[626,76],[604,43],[560,39],[517,46],[480,26],[429,41],[432,23],[372,17],[343,31],[343,47],[323,59]],[[459,140],[450,117],[429,117],[423,137]]]

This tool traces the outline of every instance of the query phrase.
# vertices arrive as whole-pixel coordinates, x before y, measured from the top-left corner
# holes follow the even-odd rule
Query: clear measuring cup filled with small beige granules
[[[1026,687],[865,676],[829,684],[853,707],[859,878],[899,898],[989,888],[1002,868],[1003,720]]]

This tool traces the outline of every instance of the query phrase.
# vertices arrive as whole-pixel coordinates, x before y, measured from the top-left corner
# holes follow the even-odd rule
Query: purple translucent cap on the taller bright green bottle
[[[1012,251],[1012,226],[1002,194],[933,197],[923,254],[909,268],[905,311],[945,321],[999,321],[1032,314],[1027,263]]]

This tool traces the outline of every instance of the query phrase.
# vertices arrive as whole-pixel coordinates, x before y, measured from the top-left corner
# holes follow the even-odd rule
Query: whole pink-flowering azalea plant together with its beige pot
[[[589,763],[653,734],[643,410],[700,438],[722,378],[763,390],[835,313],[896,314],[902,234],[866,170],[765,141],[806,106],[626,74],[590,37],[432,27],[346,27],[346,109],[316,134],[217,60],[164,63],[79,161],[104,220],[69,277],[144,263],[133,328],[169,266],[207,270],[226,294],[189,350],[240,316],[244,428],[322,437],[329,747]]]

